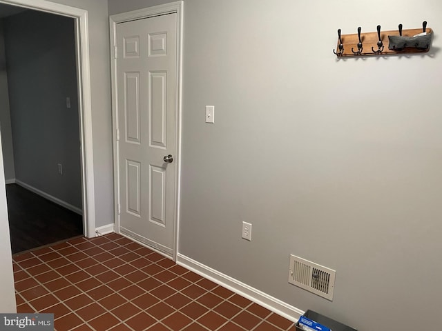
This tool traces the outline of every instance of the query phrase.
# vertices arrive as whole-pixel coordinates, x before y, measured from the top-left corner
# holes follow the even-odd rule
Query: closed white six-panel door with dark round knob
[[[172,255],[175,212],[176,14],[118,23],[119,232]],[[171,161],[169,159],[169,161]]]

